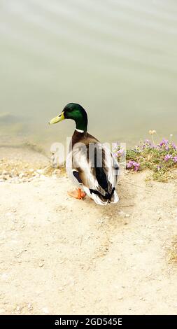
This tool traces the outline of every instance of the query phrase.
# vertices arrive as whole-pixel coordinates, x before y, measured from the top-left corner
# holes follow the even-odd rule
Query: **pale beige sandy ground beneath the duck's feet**
[[[66,177],[0,183],[0,314],[177,314],[177,181],[120,177],[120,202]]]

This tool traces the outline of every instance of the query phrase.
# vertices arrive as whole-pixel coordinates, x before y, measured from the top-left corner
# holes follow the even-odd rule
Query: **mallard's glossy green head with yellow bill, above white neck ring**
[[[50,125],[59,123],[59,121],[64,119],[74,120],[76,122],[76,129],[87,132],[87,113],[83,109],[83,106],[76,103],[67,104],[59,116],[50,120]]]

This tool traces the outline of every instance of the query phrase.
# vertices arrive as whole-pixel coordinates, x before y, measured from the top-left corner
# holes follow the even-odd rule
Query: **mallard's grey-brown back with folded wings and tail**
[[[70,166],[74,179],[97,204],[118,202],[115,191],[118,162],[104,144],[95,139],[90,141],[73,146]]]

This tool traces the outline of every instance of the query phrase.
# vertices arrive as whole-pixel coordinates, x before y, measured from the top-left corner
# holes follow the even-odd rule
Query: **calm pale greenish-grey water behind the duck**
[[[102,141],[177,139],[176,0],[0,0],[0,54],[3,140],[63,141],[69,102]]]

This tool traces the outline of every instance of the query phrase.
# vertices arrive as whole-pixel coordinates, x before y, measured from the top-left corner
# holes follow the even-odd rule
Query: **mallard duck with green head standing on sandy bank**
[[[85,109],[79,104],[69,103],[49,124],[59,123],[64,119],[71,119],[76,123],[66,158],[66,172],[77,190],[69,191],[68,194],[79,200],[88,195],[101,205],[118,202],[115,190],[118,162],[109,148],[87,132]]]

